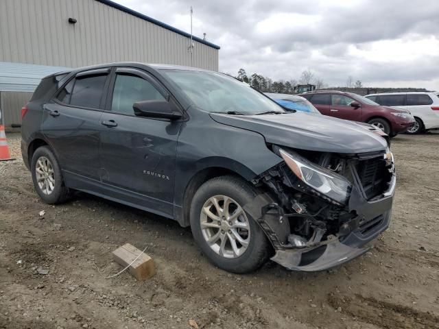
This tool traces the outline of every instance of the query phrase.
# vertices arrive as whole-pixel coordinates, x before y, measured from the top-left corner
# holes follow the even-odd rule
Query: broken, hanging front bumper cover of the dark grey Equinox
[[[261,203],[259,203],[263,201],[262,199],[258,197],[244,208],[253,218],[259,218],[259,224],[274,245],[276,254],[271,258],[274,262],[297,271],[323,271],[361,256],[372,248],[368,243],[376,239],[389,226],[395,186],[396,177],[392,175],[388,190],[381,195],[380,199],[373,201],[367,201],[364,195],[354,187],[348,208],[355,211],[357,217],[353,220],[351,232],[340,237],[329,236],[326,241],[300,249],[283,247],[280,241],[285,237],[278,234],[283,234],[282,232],[289,234],[289,223],[282,218],[264,217],[261,214]],[[259,209],[257,204],[259,204]],[[258,210],[259,217],[254,217],[258,215]],[[367,234],[363,234],[361,223],[373,223],[374,226],[368,230]]]

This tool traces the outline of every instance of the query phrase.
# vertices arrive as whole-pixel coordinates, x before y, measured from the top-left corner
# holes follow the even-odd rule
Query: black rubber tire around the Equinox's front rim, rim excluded
[[[226,258],[217,254],[206,242],[202,234],[200,223],[200,216],[202,207],[209,198],[215,195],[225,195],[235,200],[239,206],[244,206],[251,202],[257,196],[250,184],[236,178],[234,176],[222,176],[213,178],[200,186],[198,191],[193,196],[191,202],[191,230],[195,242],[198,244],[202,252],[209,258],[211,263],[233,273],[248,273],[259,269],[270,257],[272,246],[270,245],[267,236],[259,227],[259,224],[245,212],[250,226],[250,241],[248,247],[243,254],[237,258]],[[229,231],[230,232],[230,231]]]

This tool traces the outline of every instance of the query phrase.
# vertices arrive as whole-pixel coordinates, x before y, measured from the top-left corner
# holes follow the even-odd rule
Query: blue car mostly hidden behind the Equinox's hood
[[[264,93],[264,95],[276,101],[276,103],[278,103],[280,106],[285,108],[285,110],[303,111],[312,114],[323,115],[322,113],[318,112],[317,108],[313,106],[313,104],[310,103],[305,97],[299,95],[278,94],[278,93]],[[388,143],[388,146],[390,147],[390,136],[388,134],[385,134],[383,130],[379,129],[378,127],[375,127],[375,125],[369,125],[368,123],[362,123],[357,121],[351,121],[351,122],[355,122],[361,127],[363,127],[364,129],[367,129],[370,132],[374,132],[375,134],[381,136],[382,138],[385,139],[385,141]]]

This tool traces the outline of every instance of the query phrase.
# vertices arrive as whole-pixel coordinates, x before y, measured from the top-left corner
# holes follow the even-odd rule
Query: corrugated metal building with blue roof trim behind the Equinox
[[[192,40],[187,32],[108,0],[1,0],[0,86],[22,90],[8,88],[10,80],[17,81],[17,72],[18,80],[25,81],[30,71],[27,82],[34,82],[35,88],[41,77],[60,68],[105,62],[178,64],[218,71],[219,47],[195,36]],[[6,126],[19,123],[21,106],[29,95],[1,93]]]

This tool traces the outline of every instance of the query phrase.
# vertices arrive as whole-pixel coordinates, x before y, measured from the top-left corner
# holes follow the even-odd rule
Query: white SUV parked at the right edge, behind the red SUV
[[[408,134],[439,128],[439,97],[435,92],[380,93],[366,98],[383,106],[409,110],[416,123],[407,129]]]

